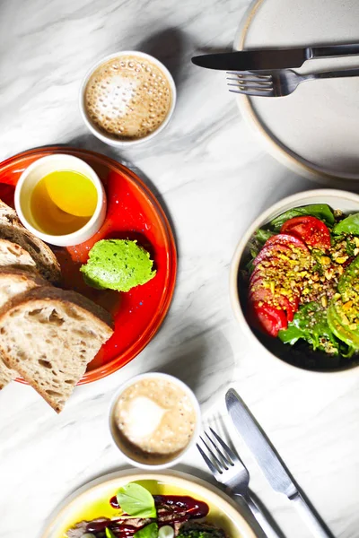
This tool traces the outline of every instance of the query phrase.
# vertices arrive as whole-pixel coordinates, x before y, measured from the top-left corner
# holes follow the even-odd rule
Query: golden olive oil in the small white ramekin
[[[97,205],[92,180],[74,170],[57,170],[39,180],[31,195],[31,213],[39,230],[66,235],[90,221]]]

